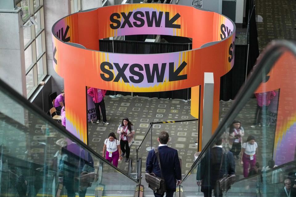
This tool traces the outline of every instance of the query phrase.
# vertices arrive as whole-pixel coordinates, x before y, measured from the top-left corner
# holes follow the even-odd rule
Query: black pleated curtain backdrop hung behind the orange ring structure
[[[183,50],[191,50],[192,43],[155,43],[139,41],[120,41],[120,40],[100,40],[100,51],[127,54],[155,54],[170,53]],[[236,93],[245,81],[247,45],[235,46],[234,66],[229,73],[221,77],[220,100],[228,101],[234,99]],[[107,91],[106,95],[132,95],[131,92]],[[179,98],[190,99],[191,88],[182,90],[173,90],[165,92],[134,92],[134,96],[143,96],[149,98]]]

